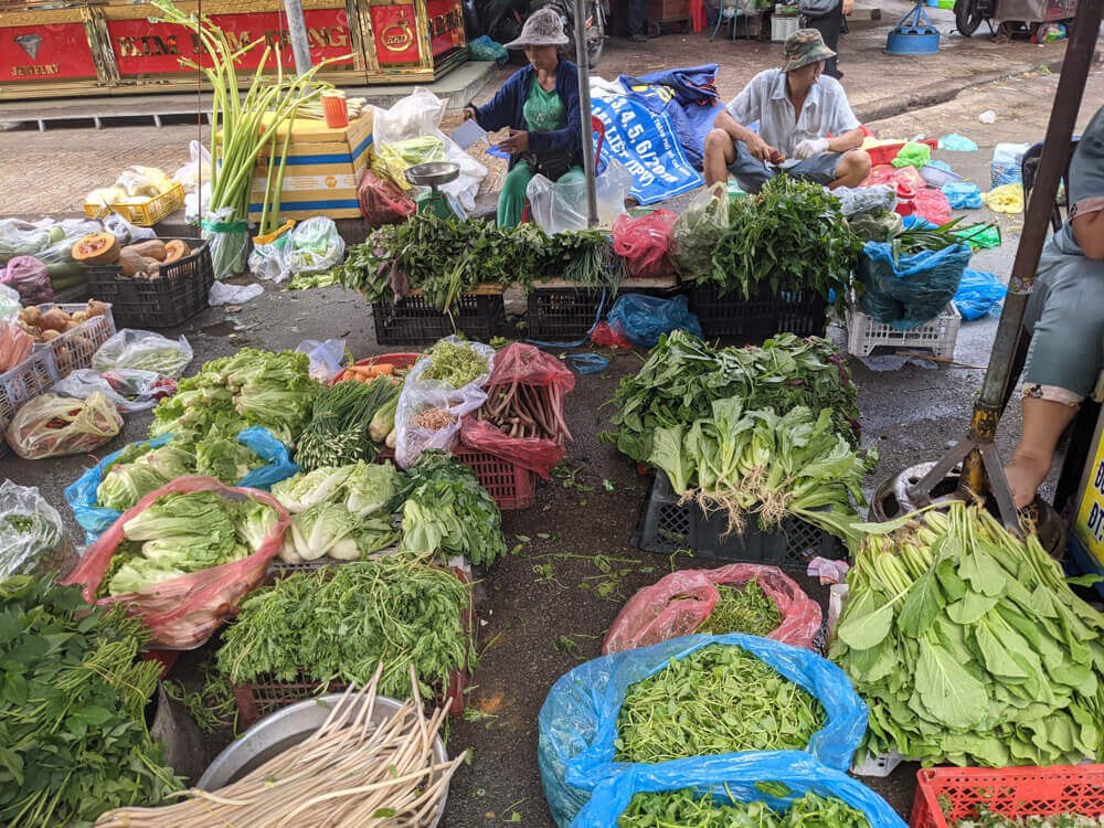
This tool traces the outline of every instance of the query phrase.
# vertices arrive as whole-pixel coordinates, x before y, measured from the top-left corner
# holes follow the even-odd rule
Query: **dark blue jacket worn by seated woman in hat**
[[[580,129],[578,70],[571,61],[560,61],[555,70],[555,91],[567,110],[567,126],[551,132],[534,132],[526,123],[524,106],[537,70],[532,64],[518,70],[498,91],[491,102],[476,109],[476,123],[488,132],[497,129],[523,129],[529,132],[529,149],[541,153],[570,150],[573,164],[583,164],[583,142]],[[518,158],[510,158],[510,169]]]

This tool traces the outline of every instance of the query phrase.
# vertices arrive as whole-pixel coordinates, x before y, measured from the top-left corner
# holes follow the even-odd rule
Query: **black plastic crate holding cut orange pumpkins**
[[[169,238],[161,241],[168,242]],[[160,278],[123,278],[119,265],[85,267],[88,293],[110,302],[120,328],[173,328],[208,306],[214,284],[211,248],[199,238],[181,238],[191,253],[162,264]]]

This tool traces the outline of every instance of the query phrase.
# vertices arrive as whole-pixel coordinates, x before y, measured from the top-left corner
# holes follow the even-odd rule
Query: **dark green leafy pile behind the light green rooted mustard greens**
[[[714,349],[673,331],[661,337],[636,374],[614,394],[616,433],[601,435],[637,463],[648,463],[661,426],[686,425],[712,413],[714,400],[736,396],[746,408],[831,408],[837,432],[858,444],[858,390],[827,339],[781,333],[762,348]]]

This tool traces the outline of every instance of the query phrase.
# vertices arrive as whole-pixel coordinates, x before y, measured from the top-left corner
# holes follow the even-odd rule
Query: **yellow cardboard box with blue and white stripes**
[[[284,187],[280,192],[280,216],[301,221],[315,215],[330,219],[359,219],[357,182],[361,170],[369,166],[372,145],[372,113],[361,113],[357,120],[341,129],[330,129],[325,120],[297,118],[282,126],[276,134],[276,152],[284,148],[287,129],[291,129]],[[276,158],[279,161],[279,156]],[[250,219],[261,219],[268,179],[268,153],[257,157],[250,195]]]

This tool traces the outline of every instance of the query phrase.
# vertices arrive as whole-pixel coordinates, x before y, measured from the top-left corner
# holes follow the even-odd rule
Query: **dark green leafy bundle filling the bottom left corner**
[[[180,787],[146,729],[161,666],[138,660],[140,620],[15,576],[0,582],[0,821],[88,828]]]

